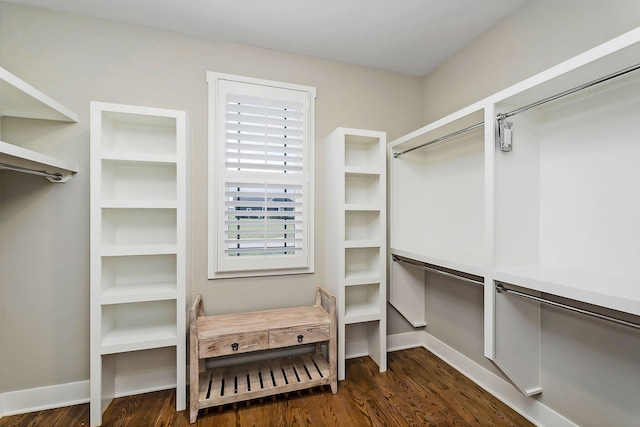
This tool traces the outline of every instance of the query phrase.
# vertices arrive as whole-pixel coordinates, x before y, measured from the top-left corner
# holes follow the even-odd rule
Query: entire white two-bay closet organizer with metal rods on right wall
[[[484,278],[485,355],[526,395],[541,303],[640,327],[638,58],[640,28],[390,144],[391,253]],[[424,323],[423,277],[392,268],[392,303]]]

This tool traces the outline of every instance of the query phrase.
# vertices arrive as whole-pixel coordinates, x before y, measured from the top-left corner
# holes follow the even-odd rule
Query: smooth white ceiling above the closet
[[[424,76],[530,0],[8,0]]]

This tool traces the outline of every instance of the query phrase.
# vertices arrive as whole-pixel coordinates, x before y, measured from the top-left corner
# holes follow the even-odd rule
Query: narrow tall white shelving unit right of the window
[[[327,194],[337,201],[327,203],[326,286],[337,296],[339,380],[347,354],[387,369],[385,150],[384,132],[338,128],[326,138]]]

